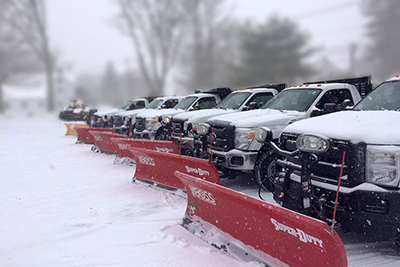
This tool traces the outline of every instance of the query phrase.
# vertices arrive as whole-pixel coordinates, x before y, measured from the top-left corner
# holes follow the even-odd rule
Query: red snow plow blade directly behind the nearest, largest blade
[[[180,171],[211,183],[220,183],[218,170],[209,160],[142,148],[131,147],[128,150],[136,162],[134,180],[171,191],[185,190],[183,183],[174,176],[175,171]]]

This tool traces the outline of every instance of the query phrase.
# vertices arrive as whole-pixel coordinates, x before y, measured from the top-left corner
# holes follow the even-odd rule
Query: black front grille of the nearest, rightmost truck
[[[297,136],[296,134],[282,134],[281,145],[285,149],[293,151]],[[365,145],[356,145],[344,140],[332,141],[333,146],[326,153],[316,154],[318,162],[310,165],[312,179],[336,185],[339,180],[343,152],[346,151],[341,185],[353,187],[364,182]],[[288,161],[300,166],[302,163],[298,156],[289,158]],[[295,173],[300,175],[300,171]]]

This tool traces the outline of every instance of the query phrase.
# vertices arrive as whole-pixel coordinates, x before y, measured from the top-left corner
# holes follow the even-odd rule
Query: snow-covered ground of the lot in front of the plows
[[[184,230],[184,198],[133,184],[134,167],[75,144],[56,117],[0,117],[0,266],[261,266]],[[343,239],[351,266],[400,266],[387,243]]]

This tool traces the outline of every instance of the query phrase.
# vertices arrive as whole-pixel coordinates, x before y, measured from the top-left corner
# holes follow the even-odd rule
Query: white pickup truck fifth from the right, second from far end
[[[129,125],[131,125],[131,133],[135,127],[136,115],[144,110],[159,110],[165,108],[175,107],[181,100],[183,96],[163,96],[157,97],[145,108],[145,109],[134,109],[134,110],[124,110],[117,112],[113,115],[113,128],[119,134],[128,134]],[[130,134],[131,134],[130,133]]]

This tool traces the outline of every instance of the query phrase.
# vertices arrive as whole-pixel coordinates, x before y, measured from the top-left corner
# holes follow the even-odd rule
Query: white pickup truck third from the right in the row
[[[206,149],[196,132],[199,123],[223,114],[258,109],[285,87],[286,84],[265,84],[237,89],[212,109],[179,113],[172,117],[172,139],[181,146],[182,154],[201,157]]]

